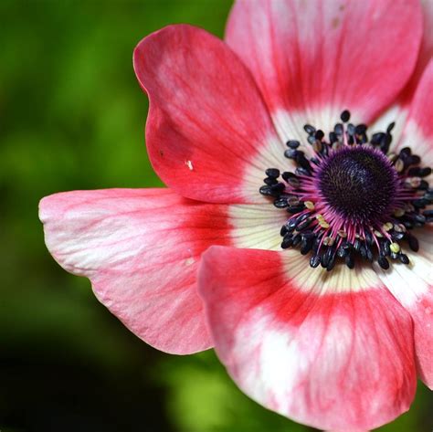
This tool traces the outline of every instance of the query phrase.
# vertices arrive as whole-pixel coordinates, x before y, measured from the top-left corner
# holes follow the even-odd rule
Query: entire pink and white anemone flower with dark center
[[[417,375],[433,382],[423,6],[244,0],[226,43],[145,37],[134,68],[169,189],[44,198],[49,251],[145,342],[215,345],[263,406],[339,431],[396,418]]]

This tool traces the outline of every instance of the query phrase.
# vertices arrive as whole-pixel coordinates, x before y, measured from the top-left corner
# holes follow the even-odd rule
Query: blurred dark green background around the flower
[[[159,353],[49,256],[37,203],[161,185],[132,49],[162,26],[222,37],[227,0],[0,2],[0,429],[311,431],[250,401],[212,351]],[[432,395],[378,430],[431,431]]]

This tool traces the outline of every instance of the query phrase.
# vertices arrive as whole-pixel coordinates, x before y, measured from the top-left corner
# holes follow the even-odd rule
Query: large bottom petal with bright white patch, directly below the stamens
[[[358,432],[412,402],[412,321],[372,269],[326,273],[296,251],[212,247],[199,290],[219,358],[263,406]]]

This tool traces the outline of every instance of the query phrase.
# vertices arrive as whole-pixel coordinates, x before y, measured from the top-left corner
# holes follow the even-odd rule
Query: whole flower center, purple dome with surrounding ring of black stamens
[[[288,212],[281,227],[281,248],[311,253],[310,265],[332,270],[337,260],[354,269],[355,262],[377,260],[383,269],[389,260],[403,264],[402,240],[414,251],[418,241],[410,231],[433,222],[433,189],[424,180],[431,168],[408,147],[388,153],[391,123],[386,132],[369,140],[364,124],[349,123],[349,111],[335,125],[329,139],[312,125],[304,126],[311,156],[295,140],[284,155],[296,164],[295,172],[266,170],[260,194]],[[281,176],[281,179],[279,180]]]

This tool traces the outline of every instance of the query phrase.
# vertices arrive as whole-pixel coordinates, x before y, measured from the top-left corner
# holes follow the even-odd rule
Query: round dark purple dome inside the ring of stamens
[[[396,170],[384,153],[367,146],[343,147],[321,165],[323,199],[345,219],[372,224],[389,213],[396,198]]]

